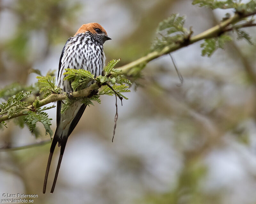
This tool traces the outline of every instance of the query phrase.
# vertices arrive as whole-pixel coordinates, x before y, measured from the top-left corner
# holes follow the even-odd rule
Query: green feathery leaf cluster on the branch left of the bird
[[[48,114],[43,111],[51,109],[55,106],[45,106],[41,108],[39,104],[40,98],[37,96],[36,99],[33,100],[32,95],[33,92],[34,95],[44,92],[42,97],[46,98],[51,93],[59,93],[61,89],[55,86],[56,79],[52,76],[52,73],[50,73],[50,75],[46,77],[38,76],[36,78],[38,79],[38,83],[34,85],[26,87],[19,83],[13,83],[11,85],[4,87],[0,91],[0,98],[9,97],[5,102],[0,104],[0,115],[7,115],[9,118],[11,118],[15,114],[24,112],[24,115],[27,115],[26,117],[23,117],[24,120],[15,120],[15,122],[17,122],[17,124],[21,128],[24,127],[25,123],[28,125],[28,128],[31,131],[33,130],[32,132],[36,134],[36,122],[41,122],[44,125],[46,133],[49,133],[50,136],[52,136],[52,130],[50,129],[50,120],[52,119],[48,118]],[[24,92],[22,89],[29,91]],[[1,123],[7,128],[7,124],[4,121]]]

